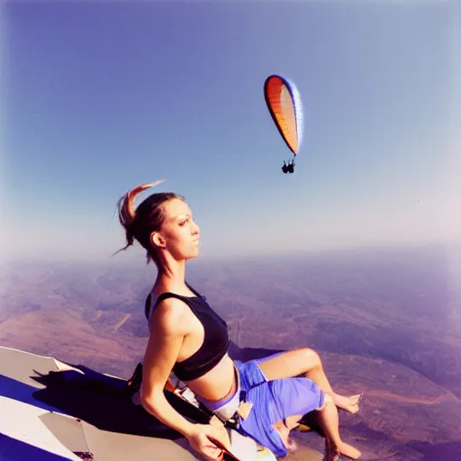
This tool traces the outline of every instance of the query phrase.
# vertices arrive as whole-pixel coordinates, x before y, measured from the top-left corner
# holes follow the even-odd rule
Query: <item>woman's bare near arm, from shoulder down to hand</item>
[[[227,432],[222,433],[211,425],[186,420],[170,405],[164,393],[187,334],[185,313],[185,305],[181,301],[169,298],[160,303],[152,315],[142,366],[140,400],[146,411],[183,434],[195,450],[209,459],[217,459],[221,457],[221,450],[209,438],[215,438],[224,447],[229,447]]]

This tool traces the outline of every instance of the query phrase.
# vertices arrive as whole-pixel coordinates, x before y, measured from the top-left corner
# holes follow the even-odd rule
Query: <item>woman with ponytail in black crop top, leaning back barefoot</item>
[[[359,396],[345,397],[331,389],[316,352],[302,348],[247,363],[234,363],[228,356],[229,336],[225,321],[185,282],[185,261],[199,254],[200,229],[184,197],[173,193],[151,194],[134,209],[136,195],[161,182],[138,185],[119,201],[119,218],[127,238],[123,249],[137,240],[147,250],[148,262],[153,260],[158,268],[150,293],[155,303],[148,306],[149,340],[140,388],[144,409],[182,433],[205,459],[221,459],[222,451],[212,440],[229,447],[225,432],[212,425],[191,423],[167,402],[163,391],[171,372],[221,420],[235,416],[245,404],[241,395],[248,393],[250,396],[249,391],[259,384],[304,376],[303,383],[311,380],[315,383],[312,383],[309,404],[312,410],[319,410],[321,425],[330,445],[333,444],[332,456],[342,453],[357,459],[360,452],[339,438],[336,406],[356,412]],[[258,389],[262,392],[264,386]],[[323,399],[323,394],[328,398]],[[253,412],[249,411],[247,421],[257,410],[262,411],[256,406]],[[270,437],[280,437],[285,443],[286,434],[279,422],[271,424],[276,432]],[[296,417],[290,424],[296,425]]]

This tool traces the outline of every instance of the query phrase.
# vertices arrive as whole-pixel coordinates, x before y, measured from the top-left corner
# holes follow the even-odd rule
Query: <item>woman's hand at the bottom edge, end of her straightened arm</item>
[[[222,448],[230,449],[230,439],[226,429],[216,428],[211,424],[194,424],[186,436],[190,446],[207,461],[221,461]]]

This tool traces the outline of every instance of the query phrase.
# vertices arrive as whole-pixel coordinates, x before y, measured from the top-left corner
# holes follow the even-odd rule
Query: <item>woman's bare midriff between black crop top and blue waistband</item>
[[[185,384],[196,395],[211,402],[218,402],[233,395],[237,390],[234,364],[226,354],[206,375]]]

